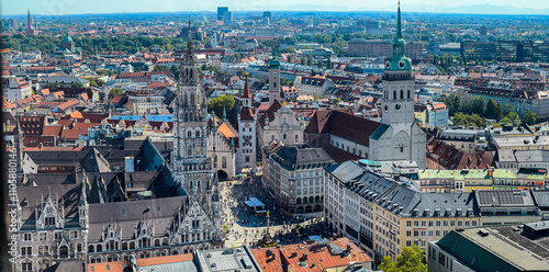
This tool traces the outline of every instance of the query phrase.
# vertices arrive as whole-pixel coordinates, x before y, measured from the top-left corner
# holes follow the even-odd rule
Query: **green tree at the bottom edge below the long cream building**
[[[396,258],[396,262],[391,257],[383,257],[378,270],[385,272],[426,272],[427,262],[424,251],[413,245],[412,248],[405,247],[402,250],[402,253]]]

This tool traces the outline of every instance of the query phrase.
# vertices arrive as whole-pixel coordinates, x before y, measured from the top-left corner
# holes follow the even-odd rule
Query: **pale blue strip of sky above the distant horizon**
[[[390,11],[390,1],[379,0],[1,0],[1,14],[31,13],[63,15],[82,13],[216,11],[226,5],[233,11],[310,10],[310,11]],[[515,9],[549,9],[549,0],[402,0],[404,11],[438,12],[458,5],[492,4]],[[528,13],[528,10],[525,10]],[[548,14],[549,15],[549,14]]]

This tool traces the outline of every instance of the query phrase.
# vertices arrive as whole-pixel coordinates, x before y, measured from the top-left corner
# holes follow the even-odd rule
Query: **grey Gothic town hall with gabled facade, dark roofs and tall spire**
[[[14,137],[21,158],[14,271],[223,247],[217,169],[208,151],[217,127],[209,126],[190,33],[180,66],[172,150],[147,138],[122,150],[86,146],[23,154],[21,133]],[[33,117],[20,117],[16,129],[26,129],[19,120]],[[254,121],[253,114],[246,120]],[[234,150],[233,144],[225,151],[235,158],[239,154]]]

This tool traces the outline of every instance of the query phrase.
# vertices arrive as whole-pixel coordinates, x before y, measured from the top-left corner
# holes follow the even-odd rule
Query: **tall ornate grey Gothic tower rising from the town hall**
[[[212,186],[212,161],[206,155],[208,112],[193,52],[191,23],[187,53],[180,65],[173,113],[173,179],[190,195],[205,196]]]

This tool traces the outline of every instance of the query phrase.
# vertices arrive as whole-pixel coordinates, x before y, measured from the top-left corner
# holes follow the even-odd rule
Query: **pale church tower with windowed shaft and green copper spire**
[[[383,73],[382,136],[370,138],[373,160],[412,160],[419,169],[426,167],[426,134],[414,117],[414,78],[412,61],[404,55],[401,4],[396,14],[393,54],[385,60]]]

